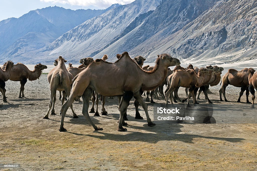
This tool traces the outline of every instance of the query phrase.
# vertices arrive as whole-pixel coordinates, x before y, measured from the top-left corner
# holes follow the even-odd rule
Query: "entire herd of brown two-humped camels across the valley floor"
[[[81,65],[79,67],[66,68],[67,62],[63,57],[59,56],[54,61],[54,68],[49,72],[47,78],[50,84],[50,103],[47,114],[44,119],[49,118],[50,115],[56,115],[54,105],[56,103],[56,92],[60,93],[61,101],[61,122],[59,131],[66,131],[63,127],[64,117],[67,109],[70,107],[74,118],[78,118],[72,108],[72,104],[75,100],[80,101],[80,97],[83,99],[82,114],[94,127],[95,130],[103,130],[103,128],[97,127],[89,117],[89,113],[95,113],[95,116],[99,116],[98,102],[99,96],[102,101],[102,115],[107,115],[105,110],[105,97],[118,98],[118,109],[120,110],[120,118],[118,121],[118,131],[126,131],[123,128],[127,125],[125,120],[127,119],[127,107],[130,100],[134,97],[134,105],[136,109],[135,118],[143,119],[138,111],[139,104],[144,109],[148,126],[152,127],[155,124],[151,121],[148,114],[148,106],[146,102],[150,101],[149,95],[151,95],[151,103],[153,96],[159,99],[158,95],[165,98],[165,104],[168,105],[169,101],[173,105],[173,101],[177,103],[185,102],[187,100],[187,107],[191,107],[189,99],[192,97],[193,106],[199,104],[197,99],[201,92],[204,93],[205,98],[209,103],[212,103],[208,98],[207,91],[209,86],[218,85],[221,81],[221,89],[219,90],[220,100],[222,100],[222,94],[226,99],[226,87],[233,85],[235,87],[241,87],[241,92],[237,102],[240,102],[241,96],[246,91],[246,102],[249,102],[249,92],[252,94],[252,106],[254,108],[255,89],[257,88],[257,72],[253,68],[244,68],[242,71],[236,71],[235,69],[229,69],[228,72],[221,78],[222,67],[218,66],[206,66],[205,68],[193,67],[191,64],[187,68],[180,66],[180,61],[177,58],[173,58],[168,54],[158,55],[155,66],[149,65],[143,66],[145,58],[142,56],[136,56],[131,58],[127,52],[117,54],[118,60],[114,63],[107,62],[107,55],[104,55],[102,59],[82,58],[79,60]],[[173,71],[170,70],[170,66],[176,66]],[[14,65],[12,61],[7,61],[0,69],[0,91],[3,95],[3,102],[6,100],[5,82],[10,79],[12,81],[20,81],[21,88],[19,98],[24,97],[24,85],[27,79],[30,81],[39,79],[43,69],[47,66],[37,64],[33,71],[30,71],[24,64],[17,63]],[[103,72],[104,71],[104,72]],[[220,84],[220,85],[221,85]],[[165,93],[163,93],[163,87],[167,85]],[[180,87],[185,88],[186,98],[180,99],[178,96],[178,89]],[[198,91],[199,90],[199,91]],[[198,92],[198,96],[197,96]],[[62,93],[62,94],[61,94]],[[145,101],[142,95],[147,95]],[[66,99],[66,97],[68,97]],[[90,112],[89,101],[92,100],[92,107]],[[66,100],[66,102],[65,102]],[[96,111],[94,108],[96,103]]]

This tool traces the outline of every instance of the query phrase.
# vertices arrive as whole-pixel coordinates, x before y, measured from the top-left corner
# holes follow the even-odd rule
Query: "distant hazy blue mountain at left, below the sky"
[[[0,22],[0,58],[19,59],[22,54],[45,47],[70,29],[117,6],[120,5],[113,4],[103,10],[76,11],[54,6],[3,20]]]

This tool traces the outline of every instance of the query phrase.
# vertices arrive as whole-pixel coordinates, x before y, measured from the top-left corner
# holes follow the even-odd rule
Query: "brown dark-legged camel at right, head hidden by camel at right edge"
[[[249,102],[248,96],[249,96],[249,80],[248,80],[248,71],[250,71],[252,68],[244,68],[241,71],[236,71],[235,69],[229,69],[228,72],[223,75],[222,77],[222,86],[219,90],[219,98],[220,101],[223,102],[221,93],[224,96],[225,102],[228,102],[226,98],[226,87],[230,84],[235,87],[241,87],[241,92],[239,94],[237,102],[240,103],[241,96],[244,94],[244,91],[246,90],[246,103]]]

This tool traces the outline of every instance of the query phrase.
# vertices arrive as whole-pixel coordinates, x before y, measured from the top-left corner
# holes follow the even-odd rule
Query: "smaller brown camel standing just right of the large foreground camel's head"
[[[194,89],[196,87],[200,87],[204,85],[205,82],[208,82],[210,80],[210,71],[207,68],[201,68],[199,69],[198,74],[196,75],[196,72],[193,69],[188,69],[187,71],[184,70],[176,70],[175,73],[171,74],[168,77],[168,84],[169,89],[166,92],[166,106],[168,105],[168,97],[170,97],[170,94],[173,94],[173,91],[179,86],[179,87],[187,87],[189,88],[189,95],[191,94],[193,97],[193,105],[195,105],[195,94]],[[173,96],[173,95],[172,95]],[[189,97],[189,96],[188,96]],[[171,104],[172,97],[170,97]],[[189,98],[187,99],[187,107],[191,107],[189,105]]]

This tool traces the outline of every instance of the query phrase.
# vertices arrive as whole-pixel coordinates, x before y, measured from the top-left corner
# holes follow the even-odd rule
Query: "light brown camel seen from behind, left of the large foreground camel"
[[[61,56],[56,60],[57,66],[54,67],[47,75],[48,82],[50,83],[50,103],[49,103],[49,109],[47,111],[47,114],[43,117],[43,119],[49,119],[48,115],[51,110],[51,115],[56,115],[54,111],[54,105],[56,102],[56,91],[62,91],[62,99],[61,99],[61,105],[64,102],[65,95],[69,97],[70,95],[70,89],[72,84],[73,76],[71,73],[69,73],[65,67],[65,62],[67,62],[65,59],[63,59]],[[70,105],[70,108],[73,113],[73,118],[78,118],[74,110],[72,109],[72,104]],[[62,110],[60,110],[61,115]]]

